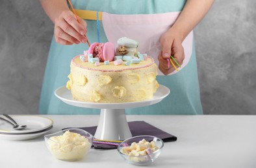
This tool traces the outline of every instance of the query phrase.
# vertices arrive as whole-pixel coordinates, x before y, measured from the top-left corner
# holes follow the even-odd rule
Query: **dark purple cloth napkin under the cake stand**
[[[177,140],[176,136],[164,132],[145,121],[131,121],[128,122],[131,134],[133,136],[140,136],[140,135],[151,135],[156,136],[162,139],[163,142],[174,142]],[[139,128],[139,129],[138,129]],[[65,128],[68,129],[68,128]],[[90,132],[90,134],[95,134],[97,126],[94,127],[79,127],[79,129],[83,129],[84,131]],[[108,145],[103,143],[93,143],[92,147],[94,149],[116,149],[117,145]]]

